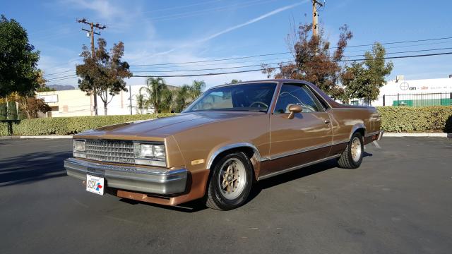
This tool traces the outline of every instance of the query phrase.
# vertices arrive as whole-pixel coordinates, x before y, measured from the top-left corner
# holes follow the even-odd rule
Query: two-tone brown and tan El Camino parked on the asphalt
[[[177,116],[74,135],[64,167],[100,195],[162,205],[204,198],[230,210],[271,176],[328,159],[355,169],[382,134],[373,107],[340,104],[300,80],[258,80],[212,87]]]

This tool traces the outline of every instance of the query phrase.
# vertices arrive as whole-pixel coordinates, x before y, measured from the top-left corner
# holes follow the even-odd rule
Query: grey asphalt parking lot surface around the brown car
[[[1,253],[451,253],[452,140],[383,138],[359,169],[334,161],[261,181],[220,212],[85,191],[71,140],[0,140]]]

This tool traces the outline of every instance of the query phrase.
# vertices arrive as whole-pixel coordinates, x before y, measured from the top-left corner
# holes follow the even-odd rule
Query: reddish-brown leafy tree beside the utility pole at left
[[[127,91],[124,78],[130,78],[129,63],[121,61],[124,56],[124,43],[113,44],[112,49],[107,52],[107,42],[99,38],[95,57],[91,56],[88,47],[83,45],[83,64],[76,66],[76,73],[81,79],[78,80],[78,87],[87,95],[99,95],[104,103],[105,115],[107,115],[107,105],[112,101],[114,95],[121,91]],[[110,98],[109,98],[110,96]]]

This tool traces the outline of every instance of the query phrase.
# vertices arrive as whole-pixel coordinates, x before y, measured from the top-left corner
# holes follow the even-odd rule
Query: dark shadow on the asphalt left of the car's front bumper
[[[64,159],[72,152],[33,152],[0,161],[0,187],[66,176]]]

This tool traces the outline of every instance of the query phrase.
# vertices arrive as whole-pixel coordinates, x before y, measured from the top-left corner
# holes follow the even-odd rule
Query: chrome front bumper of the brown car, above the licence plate
[[[86,180],[90,174],[105,178],[108,187],[163,195],[183,193],[188,174],[186,169],[115,166],[76,158],[66,159],[64,168],[76,179]]]

